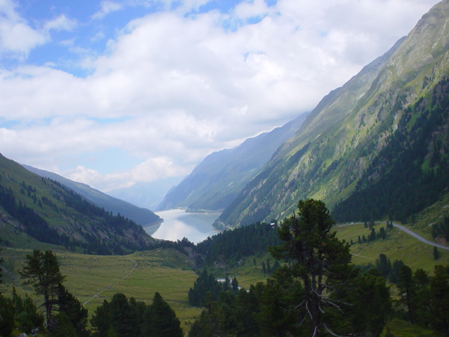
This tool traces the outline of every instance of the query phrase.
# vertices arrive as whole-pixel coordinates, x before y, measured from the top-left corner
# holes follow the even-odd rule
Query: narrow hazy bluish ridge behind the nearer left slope
[[[95,206],[104,208],[106,211],[111,211],[114,215],[121,214],[121,216],[133,220],[138,225],[147,228],[149,234],[156,232],[162,223],[162,219],[149,209],[143,209],[126,201],[110,197],[99,190],[93,189],[89,185],[77,183],[56,173],[43,171],[28,165],[22,164],[22,166],[41,177],[50,178],[51,180],[58,181],[62,185],[70,187],[76,193],[81,194],[86,200],[91,201]]]

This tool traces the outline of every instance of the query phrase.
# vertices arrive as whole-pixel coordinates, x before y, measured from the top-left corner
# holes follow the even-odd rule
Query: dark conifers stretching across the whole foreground
[[[300,201],[297,216],[283,221],[279,241],[268,247],[279,267],[250,289],[241,289],[236,278],[199,272],[189,305],[203,311],[189,336],[380,336],[392,317],[449,335],[449,265],[436,265],[428,275],[384,254],[375,265],[353,265],[334,224],[322,201]],[[0,320],[1,336],[13,329],[45,336],[183,336],[157,292],[149,305],[116,293],[96,308],[89,325],[87,310],[63,286],[52,251],[33,251],[20,275],[43,299],[44,312],[28,296],[1,294],[0,315],[7,318]]]

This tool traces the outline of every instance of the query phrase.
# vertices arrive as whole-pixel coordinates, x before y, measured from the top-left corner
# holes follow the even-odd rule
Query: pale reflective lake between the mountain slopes
[[[212,224],[221,213],[186,213],[183,209],[169,209],[156,214],[163,218],[163,223],[152,237],[170,241],[187,237],[190,242],[197,244],[217,234]]]

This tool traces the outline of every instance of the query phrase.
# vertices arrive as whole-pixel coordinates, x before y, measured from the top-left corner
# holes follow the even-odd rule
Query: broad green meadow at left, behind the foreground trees
[[[187,292],[193,286],[196,274],[185,256],[173,249],[157,249],[128,256],[54,252],[58,256],[62,274],[67,275],[65,286],[84,304],[90,315],[103,300],[110,300],[114,293],[124,293],[128,298],[133,296],[151,303],[156,291],[175,310],[185,331],[189,330],[185,323],[201,313],[199,308],[190,307],[187,299]],[[31,251],[4,247],[4,265],[16,279],[4,273],[5,282],[0,284],[0,291],[8,296],[15,284],[18,293],[28,293],[39,305],[42,299],[34,295],[33,289],[21,286],[19,270],[25,263],[27,253]]]

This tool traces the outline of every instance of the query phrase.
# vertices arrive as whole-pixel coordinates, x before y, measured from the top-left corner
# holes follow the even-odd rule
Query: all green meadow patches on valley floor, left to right
[[[381,226],[385,227],[385,223],[375,224],[376,232]],[[363,224],[341,225],[335,228],[340,239],[346,239],[347,242],[352,239],[354,242],[351,253],[353,263],[356,264],[374,264],[380,253],[384,253],[391,263],[396,259],[403,260],[413,270],[423,268],[427,272],[432,272],[436,264],[449,264],[449,251],[440,249],[441,258],[434,260],[432,246],[421,243],[396,228],[387,231],[387,239],[376,239],[375,242],[361,244],[357,243],[358,236],[368,237],[370,232]],[[53,249],[60,261],[62,274],[67,275],[65,286],[79,298],[90,315],[103,300],[110,300],[114,293],[124,293],[128,298],[133,296],[137,300],[151,303],[156,291],[159,291],[175,310],[185,331],[189,330],[186,323],[201,313],[201,309],[190,307],[187,299],[187,292],[193,286],[197,275],[192,271],[192,265],[187,257],[173,249],[143,251],[128,256],[89,256],[33,242],[25,236],[15,239],[23,246],[34,246],[42,251]],[[8,272],[4,272],[4,283],[0,284],[0,291],[8,296],[15,284],[18,293],[29,293],[39,305],[42,302],[41,298],[33,294],[30,286],[25,288],[21,286],[22,280],[19,276],[19,270],[25,263],[25,256],[31,252],[31,248],[3,247],[3,265]],[[216,277],[237,277],[239,285],[249,289],[251,284],[264,282],[267,278],[262,272],[262,262],[267,263],[267,258],[273,265],[274,259],[267,252],[244,258],[239,266],[215,269],[212,272]],[[438,336],[426,335],[422,329],[404,324],[401,321],[393,321],[389,324],[389,329],[394,336]],[[413,334],[397,332],[409,331],[408,329],[415,329],[413,331],[417,332]]]

